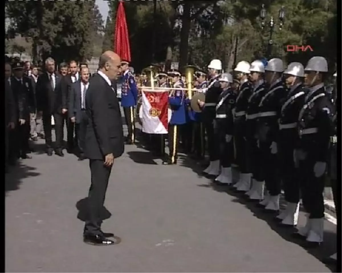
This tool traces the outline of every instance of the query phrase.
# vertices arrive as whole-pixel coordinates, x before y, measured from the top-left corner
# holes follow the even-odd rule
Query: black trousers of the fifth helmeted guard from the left
[[[260,141],[260,162],[269,195],[276,196],[281,191],[277,154],[271,153],[272,140]]]

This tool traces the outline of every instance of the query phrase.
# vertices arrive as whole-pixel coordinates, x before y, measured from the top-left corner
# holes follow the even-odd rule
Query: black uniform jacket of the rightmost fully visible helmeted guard
[[[310,160],[327,162],[330,137],[334,133],[334,106],[324,85],[309,89],[298,117],[299,147]]]

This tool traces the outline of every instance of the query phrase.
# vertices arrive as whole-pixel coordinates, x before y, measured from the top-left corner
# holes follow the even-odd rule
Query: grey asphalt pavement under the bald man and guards
[[[320,261],[336,250],[331,221],[324,244],[305,250],[272,215],[197,175],[196,162],[163,166],[139,145],[115,160],[105,201],[103,230],[122,242],[84,244],[88,161],[48,157],[43,143],[6,175],[6,273],[333,272]]]

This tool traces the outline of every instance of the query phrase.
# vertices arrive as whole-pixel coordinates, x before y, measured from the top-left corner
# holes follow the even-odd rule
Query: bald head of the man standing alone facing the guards
[[[120,72],[120,57],[113,51],[105,51],[98,62],[99,71],[108,76],[110,80],[117,78]]]

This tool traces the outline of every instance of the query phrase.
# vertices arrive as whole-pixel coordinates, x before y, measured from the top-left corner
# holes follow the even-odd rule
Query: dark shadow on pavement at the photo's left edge
[[[18,165],[9,168],[9,173],[5,175],[5,193],[19,189],[19,185],[23,182],[24,178],[40,175],[35,170],[36,168],[26,166],[22,163],[18,163]]]

